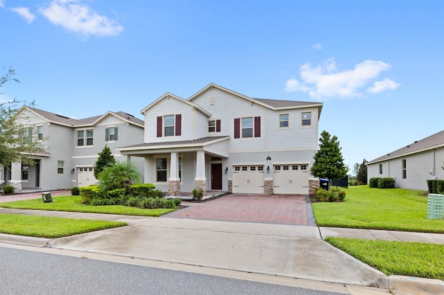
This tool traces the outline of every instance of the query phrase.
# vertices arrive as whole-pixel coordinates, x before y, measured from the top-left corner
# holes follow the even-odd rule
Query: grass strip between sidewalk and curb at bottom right
[[[444,245],[326,238],[332,244],[384,274],[444,280]]]

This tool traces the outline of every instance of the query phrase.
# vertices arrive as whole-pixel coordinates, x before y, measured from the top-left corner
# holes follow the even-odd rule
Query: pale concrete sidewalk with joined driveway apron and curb
[[[381,288],[380,291],[390,287],[397,290],[395,294],[409,294],[402,291],[405,286],[407,290],[413,290],[411,294],[418,294],[415,290],[422,292],[419,294],[444,293],[440,280],[388,277],[323,241],[327,236],[336,236],[444,243],[444,235],[439,234],[9,208],[0,208],[0,213],[123,221],[130,224],[53,240],[0,234],[0,242],[104,253],[206,269],[373,286]]]

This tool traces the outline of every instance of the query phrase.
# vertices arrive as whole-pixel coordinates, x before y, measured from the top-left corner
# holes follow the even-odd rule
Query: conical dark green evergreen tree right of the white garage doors
[[[336,136],[331,137],[325,130],[319,138],[319,150],[314,154],[314,163],[311,166],[311,175],[329,180],[337,180],[345,177],[348,167],[344,159]]]

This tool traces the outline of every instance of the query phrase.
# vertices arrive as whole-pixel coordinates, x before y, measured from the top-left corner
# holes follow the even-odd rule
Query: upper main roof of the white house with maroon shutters
[[[238,96],[239,98],[243,98],[245,100],[248,100],[250,102],[257,103],[257,105],[262,105],[263,107],[267,107],[268,109],[273,110],[280,110],[280,109],[299,109],[302,107],[317,107],[319,109],[319,115],[321,115],[321,109],[323,107],[322,102],[305,102],[305,101],[296,101],[296,100],[274,100],[274,99],[266,99],[266,98],[250,98],[248,96],[245,96],[244,94],[237,93],[236,91],[232,91],[228,88],[221,87],[218,84],[210,83],[203,89],[200,89],[200,91],[194,93],[190,98],[188,98],[189,101],[194,100],[198,96],[200,96],[205,91],[208,91],[210,89],[220,89],[222,91],[231,93],[234,96]]]

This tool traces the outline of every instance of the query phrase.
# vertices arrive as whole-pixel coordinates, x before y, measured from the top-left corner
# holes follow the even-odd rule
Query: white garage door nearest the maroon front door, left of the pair
[[[233,166],[233,193],[264,193],[264,166]]]

